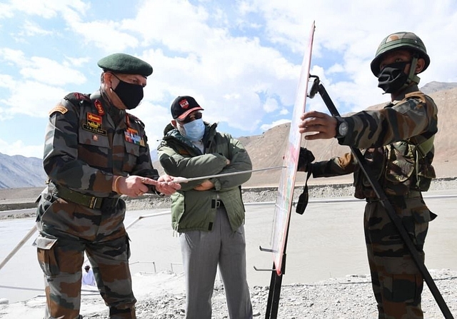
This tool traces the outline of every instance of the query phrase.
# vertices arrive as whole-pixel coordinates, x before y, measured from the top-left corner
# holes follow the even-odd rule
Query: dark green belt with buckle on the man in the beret
[[[84,195],[63,186],[56,186],[55,195],[82,206],[92,209],[101,209],[102,211],[116,207],[119,197],[95,197]]]

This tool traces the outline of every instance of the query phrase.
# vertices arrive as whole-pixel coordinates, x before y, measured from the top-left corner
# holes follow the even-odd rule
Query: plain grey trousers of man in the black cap
[[[221,207],[212,231],[181,233],[180,241],[186,278],[186,318],[211,319],[211,296],[219,264],[230,318],[251,319],[244,227],[233,232],[226,210]]]

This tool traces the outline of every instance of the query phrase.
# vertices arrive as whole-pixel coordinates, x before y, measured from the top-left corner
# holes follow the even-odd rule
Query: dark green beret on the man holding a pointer
[[[140,74],[150,76],[152,74],[151,64],[129,54],[111,54],[105,56],[98,63],[104,71],[111,71],[121,74]]]

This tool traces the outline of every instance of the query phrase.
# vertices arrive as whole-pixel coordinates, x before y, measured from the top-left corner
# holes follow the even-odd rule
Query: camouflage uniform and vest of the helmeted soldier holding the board
[[[438,111],[416,85],[408,86],[398,100],[381,111],[345,117],[351,133],[339,138],[339,143],[365,149],[367,165],[423,258],[428,222],[434,214],[421,192],[427,191],[431,178],[436,177],[431,163]],[[313,177],[354,173],[355,196],[367,201],[364,229],[379,318],[423,318],[422,275],[355,157],[348,153],[311,167]]]

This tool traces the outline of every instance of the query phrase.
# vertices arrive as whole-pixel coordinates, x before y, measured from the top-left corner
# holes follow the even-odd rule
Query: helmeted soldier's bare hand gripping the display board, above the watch
[[[305,136],[306,140],[328,139],[336,136],[336,118],[326,113],[311,111],[303,113],[298,123],[300,133],[313,133]]]

